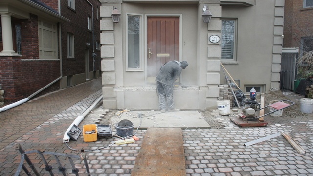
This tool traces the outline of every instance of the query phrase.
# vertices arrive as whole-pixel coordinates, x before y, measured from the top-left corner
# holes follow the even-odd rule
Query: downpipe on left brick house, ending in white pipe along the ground
[[[61,42],[61,23],[58,23],[59,24],[59,39],[60,39],[60,42]],[[5,111],[5,110],[8,110],[8,109],[11,109],[11,108],[14,108],[14,107],[17,107],[19,105],[22,105],[23,103],[27,102],[29,99],[31,99],[32,97],[34,97],[35,95],[37,95],[38,93],[40,93],[41,91],[43,91],[45,88],[51,86],[52,84],[54,84],[55,82],[59,81],[61,78],[62,78],[62,49],[61,49],[61,44],[59,45],[59,57],[60,57],[60,77],[57,78],[56,80],[52,81],[51,83],[49,83],[48,85],[46,85],[45,87],[39,89],[38,91],[36,91],[35,93],[31,94],[29,97],[27,98],[24,98],[20,101],[17,101],[15,103],[12,103],[10,105],[6,105],[2,108],[0,108],[0,113]]]

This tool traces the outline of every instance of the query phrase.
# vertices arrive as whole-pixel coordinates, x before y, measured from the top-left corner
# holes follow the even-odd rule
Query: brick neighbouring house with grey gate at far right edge
[[[305,88],[297,89],[302,78],[313,75],[308,62],[302,62],[313,53],[313,0],[285,0],[284,16],[280,88],[304,94]]]

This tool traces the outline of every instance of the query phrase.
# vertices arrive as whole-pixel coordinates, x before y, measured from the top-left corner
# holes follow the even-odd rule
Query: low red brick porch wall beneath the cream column
[[[60,76],[58,61],[21,61],[21,57],[0,57],[0,67],[5,104],[27,98]],[[55,83],[37,96],[58,89],[59,85]]]

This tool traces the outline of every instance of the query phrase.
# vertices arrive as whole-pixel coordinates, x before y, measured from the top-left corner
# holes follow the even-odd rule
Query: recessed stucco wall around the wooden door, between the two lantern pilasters
[[[136,13],[144,15],[174,15],[180,16],[181,18],[181,56],[180,60],[185,60],[189,63],[189,66],[181,73],[181,83],[186,85],[197,85],[197,4],[134,4],[134,3],[123,3],[123,11],[125,13]],[[122,16],[122,18],[125,16]],[[122,19],[118,25],[122,25],[123,31],[122,35],[125,35],[125,22]],[[145,25],[145,22],[144,24]],[[122,39],[123,48],[125,48],[125,37]],[[123,55],[123,61],[125,61],[125,55]],[[144,63],[146,64],[146,63]],[[144,71],[138,72],[126,72],[126,68],[123,67],[116,68],[116,72],[123,69],[124,86],[138,86],[145,85],[145,71],[147,66],[145,65]]]

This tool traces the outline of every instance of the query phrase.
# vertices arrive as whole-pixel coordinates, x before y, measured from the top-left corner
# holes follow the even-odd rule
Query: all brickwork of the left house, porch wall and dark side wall
[[[58,9],[58,0],[42,0],[53,9]],[[95,41],[100,41],[100,21],[96,19],[98,0],[88,0],[94,7],[94,52],[100,59],[100,51],[95,49]],[[89,71],[93,70],[92,31],[87,29],[87,17],[92,16],[92,7],[86,0],[76,0],[76,9],[67,7],[67,0],[61,0],[62,16],[70,22],[62,22],[63,76],[85,73],[85,50],[89,50]],[[75,58],[67,58],[67,32],[75,35]],[[22,57],[0,57],[0,84],[4,90],[4,103],[9,104],[27,98],[60,77],[60,61],[39,59],[38,17],[30,14],[29,19],[21,19]],[[90,46],[86,46],[90,43]],[[27,60],[28,59],[28,60]],[[101,61],[95,62],[95,70],[101,70]],[[37,96],[58,90],[59,82],[46,88]]]

